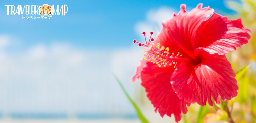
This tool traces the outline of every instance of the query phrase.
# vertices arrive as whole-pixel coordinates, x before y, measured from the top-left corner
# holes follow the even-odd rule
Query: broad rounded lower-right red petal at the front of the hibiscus
[[[201,63],[181,63],[171,76],[173,90],[180,99],[204,106],[211,97],[219,104],[237,95],[236,73],[224,55],[200,53]]]

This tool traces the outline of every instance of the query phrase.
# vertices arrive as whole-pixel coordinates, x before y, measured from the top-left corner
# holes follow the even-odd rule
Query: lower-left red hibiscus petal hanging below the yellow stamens
[[[169,117],[174,114],[175,121],[178,122],[181,119],[181,111],[186,114],[188,103],[179,99],[172,90],[170,76],[173,71],[173,67],[160,68],[147,62],[147,66],[141,72],[141,85],[145,88],[155,111],[158,111],[162,117],[165,114]]]

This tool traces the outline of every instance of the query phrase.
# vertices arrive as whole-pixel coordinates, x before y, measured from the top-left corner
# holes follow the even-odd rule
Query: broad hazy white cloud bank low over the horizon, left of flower
[[[136,47],[99,51],[52,44],[0,52],[0,111],[133,113],[112,72],[134,96],[129,80],[142,57]]]

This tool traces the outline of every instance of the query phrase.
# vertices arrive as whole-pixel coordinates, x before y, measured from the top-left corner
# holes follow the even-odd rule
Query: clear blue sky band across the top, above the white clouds
[[[50,20],[22,19],[22,15],[6,15],[4,5],[64,5],[68,6],[65,16],[55,15]],[[46,1],[1,1],[0,34],[9,34],[22,40],[26,48],[37,43],[65,42],[81,48],[89,47],[127,47],[137,39],[134,25],[145,20],[145,14],[151,9],[171,7],[179,10],[180,4],[188,9],[198,3],[210,6],[215,12],[224,14],[232,12],[225,8],[223,0],[46,0]],[[40,28],[47,28],[42,36]]]

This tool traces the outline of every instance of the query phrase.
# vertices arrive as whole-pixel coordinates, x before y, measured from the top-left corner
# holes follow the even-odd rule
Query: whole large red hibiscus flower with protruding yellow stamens
[[[220,104],[219,97],[225,101],[237,95],[236,74],[225,54],[250,39],[241,18],[229,20],[202,4],[191,12],[185,7],[162,22],[154,42],[139,43],[146,51],[131,79],[141,79],[155,111],[162,117],[174,114],[176,122],[181,111],[186,114],[186,105],[204,106],[208,100],[212,106],[212,98]]]

